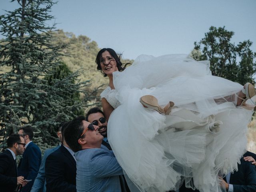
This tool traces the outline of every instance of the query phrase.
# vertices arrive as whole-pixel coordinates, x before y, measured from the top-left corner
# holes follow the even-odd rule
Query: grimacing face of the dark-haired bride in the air
[[[101,54],[100,66],[106,75],[112,75],[114,71],[118,71],[116,60],[110,55],[108,51]]]

